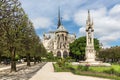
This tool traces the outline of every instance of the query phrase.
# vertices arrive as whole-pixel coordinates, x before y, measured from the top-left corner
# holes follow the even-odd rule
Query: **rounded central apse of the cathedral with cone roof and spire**
[[[60,17],[60,8],[58,10],[58,27],[56,30],[56,53],[57,56],[67,57],[69,55],[69,47],[68,47],[68,31],[62,25],[62,20]]]

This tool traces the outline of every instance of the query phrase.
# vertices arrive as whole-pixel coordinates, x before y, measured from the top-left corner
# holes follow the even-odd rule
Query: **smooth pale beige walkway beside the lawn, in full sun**
[[[47,63],[30,80],[109,80],[96,77],[79,76],[70,72],[54,72],[52,62]]]

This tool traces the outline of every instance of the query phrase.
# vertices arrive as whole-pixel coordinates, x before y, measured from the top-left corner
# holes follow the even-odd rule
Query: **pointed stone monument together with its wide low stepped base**
[[[109,63],[96,61],[96,51],[94,49],[94,27],[93,27],[93,21],[91,21],[91,18],[90,18],[89,10],[88,10],[88,19],[86,21],[85,61],[80,61],[79,65],[111,66],[111,64]]]

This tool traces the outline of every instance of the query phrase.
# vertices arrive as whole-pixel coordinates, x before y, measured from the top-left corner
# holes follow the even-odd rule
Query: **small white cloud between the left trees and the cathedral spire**
[[[33,22],[33,25],[35,26],[35,29],[40,29],[40,28],[46,29],[46,28],[50,28],[53,25],[52,20],[45,17],[32,19],[32,22]]]

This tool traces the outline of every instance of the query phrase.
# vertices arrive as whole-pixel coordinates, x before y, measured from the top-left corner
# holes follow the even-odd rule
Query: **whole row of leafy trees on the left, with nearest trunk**
[[[18,55],[30,59],[40,58],[46,53],[21,3],[18,0],[0,0],[0,58],[11,57],[11,71],[16,71]]]

